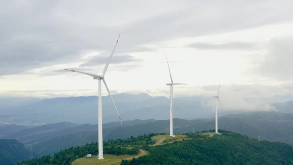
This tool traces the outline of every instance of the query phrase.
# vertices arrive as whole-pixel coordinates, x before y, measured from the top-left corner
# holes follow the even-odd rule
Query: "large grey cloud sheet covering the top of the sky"
[[[109,53],[120,32],[116,51],[127,54],[154,51],[150,43],[284,22],[293,19],[292,3],[3,0],[0,76],[77,62],[88,51]]]

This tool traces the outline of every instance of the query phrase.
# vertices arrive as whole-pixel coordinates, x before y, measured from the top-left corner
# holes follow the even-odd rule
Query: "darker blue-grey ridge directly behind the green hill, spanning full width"
[[[62,126],[64,125],[64,126]],[[56,126],[58,128],[54,128]],[[189,133],[215,129],[215,118],[174,119],[174,133]],[[238,132],[260,140],[280,141],[293,145],[293,114],[276,111],[246,112],[219,117],[219,129]],[[97,125],[68,122],[25,129],[5,136],[17,139],[25,146],[33,144],[40,155],[53,154],[64,148],[97,141]],[[133,120],[103,124],[103,139],[127,138],[148,133],[169,132],[169,120]]]

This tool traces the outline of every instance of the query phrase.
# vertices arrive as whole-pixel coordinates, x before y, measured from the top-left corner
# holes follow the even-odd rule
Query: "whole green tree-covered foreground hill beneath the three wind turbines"
[[[139,149],[148,155],[133,160],[123,160],[122,165],[293,165],[293,146],[279,142],[257,141],[230,131],[209,137],[208,134],[186,134],[190,140],[176,141],[152,146],[149,134],[126,139],[109,140],[104,143],[104,153],[135,155]],[[69,148],[55,153],[21,162],[19,165],[71,165],[76,157],[97,154],[97,143]],[[92,159],[97,161],[98,160]]]

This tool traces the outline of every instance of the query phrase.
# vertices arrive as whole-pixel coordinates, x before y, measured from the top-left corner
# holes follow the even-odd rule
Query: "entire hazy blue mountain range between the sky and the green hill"
[[[104,140],[169,132],[168,98],[147,93],[119,93],[113,97],[124,128],[110,97],[103,96]],[[215,129],[214,108],[209,107],[211,99],[204,96],[174,98],[174,133]],[[220,109],[219,129],[293,145],[293,101],[272,103],[271,106],[276,111]],[[39,155],[53,155],[65,148],[97,140],[97,96],[0,98],[0,112],[0,138],[16,139]]]

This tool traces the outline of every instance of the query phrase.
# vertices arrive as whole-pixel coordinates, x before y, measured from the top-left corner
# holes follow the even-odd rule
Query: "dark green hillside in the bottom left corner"
[[[16,140],[0,139],[0,165],[12,165],[30,158],[30,151]]]

